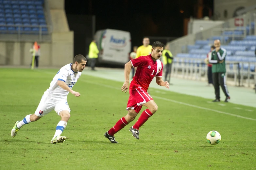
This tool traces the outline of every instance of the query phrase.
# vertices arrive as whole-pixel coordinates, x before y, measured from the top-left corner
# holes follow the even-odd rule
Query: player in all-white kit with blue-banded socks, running
[[[27,115],[21,121],[16,121],[11,130],[11,136],[15,137],[23,125],[28,124],[31,121],[39,120],[50,111],[55,110],[61,117],[61,120],[57,124],[56,132],[51,143],[56,144],[64,142],[66,137],[61,136],[61,133],[67,126],[67,122],[70,118],[70,108],[68,106],[67,95],[71,92],[76,97],[80,96],[80,93],[73,91],[72,87],[81,76],[81,72],[85,68],[86,62],[86,58],[79,54],[74,58],[73,64],[71,63],[61,67],[51,81],[49,89],[44,92],[36,112],[33,115]]]

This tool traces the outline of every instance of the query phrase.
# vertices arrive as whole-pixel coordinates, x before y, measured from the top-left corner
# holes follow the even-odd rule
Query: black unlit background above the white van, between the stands
[[[198,18],[200,4],[202,16],[209,16],[213,0],[65,0],[69,27],[74,31],[74,53],[88,53],[92,15],[95,32],[106,28],[129,31],[132,46],[141,46],[145,36],[183,36],[184,19]]]

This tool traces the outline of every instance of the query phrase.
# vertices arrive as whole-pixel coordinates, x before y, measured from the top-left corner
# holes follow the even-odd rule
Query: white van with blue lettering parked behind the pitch
[[[98,63],[123,65],[129,61],[131,35],[121,30],[99,30],[95,34],[99,49]]]

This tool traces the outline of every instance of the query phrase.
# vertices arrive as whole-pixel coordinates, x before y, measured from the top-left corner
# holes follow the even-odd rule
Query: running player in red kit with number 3
[[[142,112],[138,121],[130,127],[130,131],[135,138],[139,139],[139,128],[148,120],[148,118],[156,113],[158,106],[153,98],[147,93],[147,89],[154,77],[156,77],[156,83],[158,85],[165,86],[169,89],[169,83],[162,80],[163,64],[159,60],[162,55],[163,47],[164,45],[161,42],[156,41],[152,44],[150,55],[140,56],[125,64],[125,82],[121,88],[122,92],[127,92],[128,90],[131,67],[138,68],[130,83],[130,96],[126,108],[128,114],[118,120],[104,135],[111,141],[111,143],[118,143],[115,141],[114,134],[133,121],[140,112],[142,106],[146,106],[147,109]]]

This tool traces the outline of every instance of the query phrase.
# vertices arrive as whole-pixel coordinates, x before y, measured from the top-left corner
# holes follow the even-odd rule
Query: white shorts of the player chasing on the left
[[[60,112],[63,110],[67,110],[70,113],[67,98],[44,92],[35,114],[42,117],[47,115],[52,110],[55,110],[58,115],[60,115]]]

